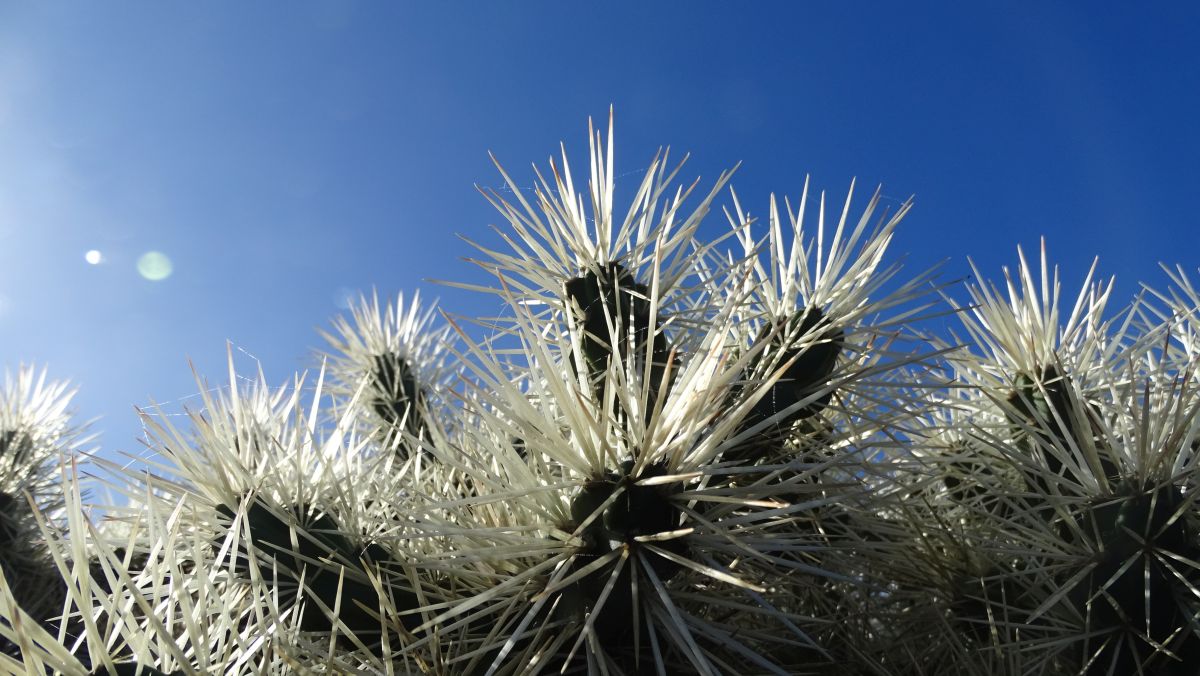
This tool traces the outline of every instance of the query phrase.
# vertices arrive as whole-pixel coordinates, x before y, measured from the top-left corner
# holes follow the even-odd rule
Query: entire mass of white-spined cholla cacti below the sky
[[[564,154],[487,195],[496,283],[458,286],[496,337],[364,298],[313,387],[230,361],[188,424],[148,413],[154,463],[88,469],[120,504],[66,390],[10,379],[0,671],[1195,672],[1182,269],[1068,307],[1019,250],[959,293],[888,262],[908,202],[808,183],[698,241],[728,173],[690,198],[660,152],[618,210],[611,121],[589,149],[586,190]]]

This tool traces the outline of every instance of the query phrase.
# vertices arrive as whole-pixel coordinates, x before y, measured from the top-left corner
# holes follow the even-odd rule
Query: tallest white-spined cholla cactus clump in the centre
[[[895,336],[877,315],[920,282],[871,298],[894,273],[877,267],[906,209],[872,231],[875,203],[850,226],[847,198],[828,239],[823,205],[812,239],[803,203],[786,221],[773,209],[766,262],[738,210],[731,232],[744,257],[721,268],[719,252],[694,241],[715,189],[690,213],[682,192],[659,207],[666,173],[655,160],[617,227],[611,144],[596,134],[592,148],[590,199],[565,167],[541,184],[536,208],[520,192],[522,209],[494,198],[514,253],[487,252],[482,264],[514,309],[509,336],[524,359],[510,366],[472,343],[470,363],[482,365],[479,400],[521,453],[482,437],[474,456],[496,473],[480,490],[528,501],[541,514],[523,526],[557,546],[530,538],[544,554],[528,570],[546,572],[498,587],[498,606],[527,610],[520,640],[502,636],[491,666],[713,674],[832,663],[821,636],[836,632],[823,616],[853,612],[847,599],[869,585],[870,556],[847,554],[846,531],[872,527],[881,509],[862,477],[878,471],[866,466],[898,418],[864,381],[913,359],[889,352]]]

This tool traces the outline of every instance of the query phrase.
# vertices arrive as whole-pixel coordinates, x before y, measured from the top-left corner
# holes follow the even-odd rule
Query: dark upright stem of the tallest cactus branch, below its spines
[[[650,340],[649,288],[638,283],[619,263],[608,263],[599,270],[588,270],[566,282],[566,300],[576,324],[583,331],[582,364],[575,361],[576,372],[583,369],[592,383],[599,383],[598,395],[604,400],[605,373],[613,354],[613,342],[623,360],[643,364],[646,341]],[[610,325],[614,330],[610,330]],[[649,369],[648,407],[654,409],[666,369],[671,364],[671,348],[666,336],[656,331]]]

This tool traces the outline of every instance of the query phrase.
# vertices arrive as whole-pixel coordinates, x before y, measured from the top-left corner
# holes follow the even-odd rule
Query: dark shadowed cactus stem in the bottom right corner
[[[1200,638],[1189,627],[1200,604],[1189,587],[1200,573],[1183,563],[1200,560],[1192,510],[1178,487],[1126,485],[1084,513],[1094,569],[1070,598],[1090,634],[1079,648],[1088,676],[1196,672]]]

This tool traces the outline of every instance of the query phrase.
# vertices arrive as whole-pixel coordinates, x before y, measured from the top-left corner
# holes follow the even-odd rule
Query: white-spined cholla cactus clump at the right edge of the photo
[[[965,387],[920,447],[919,537],[978,672],[1194,669],[1194,364],[1157,354],[1169,327],[1135,333],[1139,309],[1106,318],[1110,289],[1088,275],[1063,315],[1045,253],[1040,283],[1021,256],[1007,299],[972,287],[960,315],[980,352],[954,353]]]

